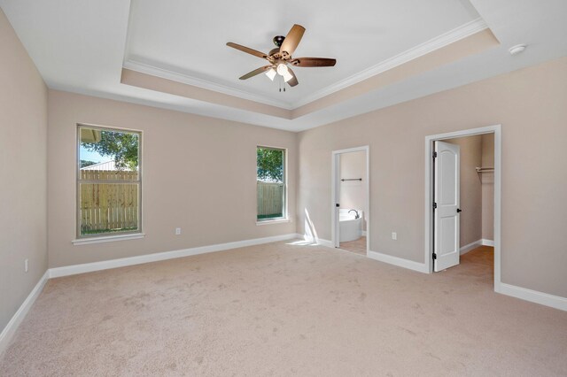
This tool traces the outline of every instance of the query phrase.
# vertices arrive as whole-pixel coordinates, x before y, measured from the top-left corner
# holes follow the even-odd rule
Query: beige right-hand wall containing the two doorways
[[[561,58],[305,131],[298,214],[330,240],[331,151],[369,144],[370,250],[423,262],[425,136],[501,124],[501,279],[567,296],[566,102]]]

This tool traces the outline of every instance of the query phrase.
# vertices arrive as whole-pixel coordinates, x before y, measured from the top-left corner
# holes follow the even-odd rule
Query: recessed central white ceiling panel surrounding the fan
[[[282,12],[282,9],[284,10]],[[293,11],[291,11],[293,10]],[[204,84],[237,89],[285,108],[338,81],[478,19],[468,0],[287,1],[135,0],[125,61],[181,73]],[[265,75],[238,77],[267,62],[231,49],[237,42],[268,52],[272,38],[294,23],[307,28],[294,57],[336,58],[335,67],[294,68],[299,86],[279,92]]]

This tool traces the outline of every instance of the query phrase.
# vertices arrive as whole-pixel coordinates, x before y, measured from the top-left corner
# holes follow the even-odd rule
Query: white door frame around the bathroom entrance
[[[330,181],[330,221],[331,221],[331,244],[333,247],[338,248],[339,231],[338,231],[338,211],[337,203],[340,203],[340,173],[339,173],[339,157],[342,153],[350,152],[366,152],[366,182],[364,184],[366,191],[366,208],[363,209],[366,218],[366,253],[368,256],[370,250],[370,146],[363,145],[361,147],[348,148],[346,150],[333,150],[331,154],[331,181]]]

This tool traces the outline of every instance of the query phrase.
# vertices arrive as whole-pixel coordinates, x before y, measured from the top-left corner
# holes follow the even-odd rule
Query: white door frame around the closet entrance
[[[425,270],[433,271],[433,142],[494,134],[494,290],[501,289],[501,125],[425,136]]]

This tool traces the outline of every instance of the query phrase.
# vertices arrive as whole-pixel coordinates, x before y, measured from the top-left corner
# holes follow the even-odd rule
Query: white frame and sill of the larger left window
[[[128,133],[128,134],[137,134],[138,135],[138,174],[136,181],[105,181],[105,180],[81,180],[81,129],[82,128],[91,128],[97,129],[101,131],[114,131],[114,132],[121,132],[121,133]],[[143,229],[143,217],[142,217],[142,146],[143,146],[143,132],[141,130],[129,129],[129,128],[118,128],[118,127],[106,127],[106,126],[98,126],[98,125],[90,125],[85,123],[77,123],[77,127],[75,128],[76,131],[76,156],[75,156],[75,236],[76,239],[72,242],[75,245],[80,244],[88,244],[88,243],[98,243],[98,242],[113,242],[113,241],[120,241],[120,240],[131,240],[136,238],[144,237]],[[128,183],[128,184],[136,184],[138,187],[138,212],[137,212],[137,225],[138,228],[135,230],[128,230],[122,232],[113,232],[113,233],[100,233],[94,235],[81,235],[81,184],[84,183]]]

